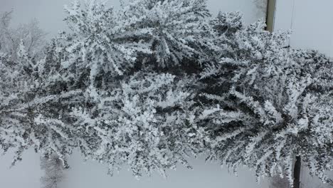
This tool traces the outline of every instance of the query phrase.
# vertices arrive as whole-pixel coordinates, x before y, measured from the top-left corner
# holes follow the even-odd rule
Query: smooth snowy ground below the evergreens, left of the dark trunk
[[[12,153],[0,158],[0,187],[4,188],[39,188],[41,170],[39,155],[28,150],[23,161],[9,169]],[[240,169],[238,176],[221,169],[216,163],[205,164],[204,157],[189,161],[194,169],[189,170],[181,165],[170,170],[166,179],[154,174],[137,180],[124,167],[114,177],[107,175],[107,165],[93,161],[83,161],[78,152],[69,159],[70,169],[65,172],[65,180],[58,188],[267,188],[268,179],[260,184],[255,182],[253,172]]]

